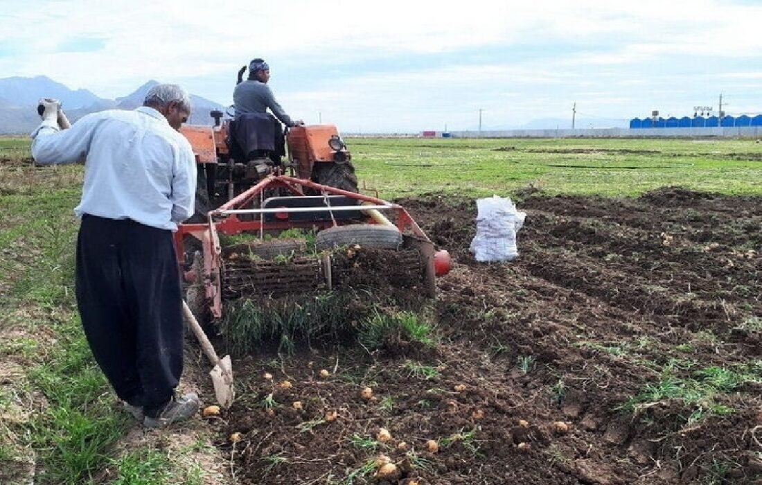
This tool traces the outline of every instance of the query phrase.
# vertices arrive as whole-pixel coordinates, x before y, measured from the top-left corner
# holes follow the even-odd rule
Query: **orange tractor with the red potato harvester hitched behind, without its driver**
[[[197,215],[178,226],[174,242],[190,268],[194,313],[219,318],[225,300],[333,290],[358,268],[435,296],[434,278],[450,271],[450,256],[404,207],[358,193],[351,154],[334,126],[287,131],[289,160],[280,164],[267,151],[236,159],[228,123],[216,121],[183,127],[199,164]],[[315,248],[307,251],[304,239],[270,239],[293,229],[314,231]],[[251,237],[220,242],[240,234]]]

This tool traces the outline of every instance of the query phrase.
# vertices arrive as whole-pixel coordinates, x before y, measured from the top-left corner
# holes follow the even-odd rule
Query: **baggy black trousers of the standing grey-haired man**
[[[76,293],[85,336],[117,396],[155,416],[183,370],[182,293],[171,231],[85,215]]]

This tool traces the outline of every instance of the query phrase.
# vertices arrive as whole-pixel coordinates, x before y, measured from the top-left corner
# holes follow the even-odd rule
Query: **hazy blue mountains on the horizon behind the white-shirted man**
[[[69,89],[44,75],[0,79],[0,134],[25,134],[34,130],[40,124],[37,115],[37,101],[40,98],[59,99],[66,116],[73,123],[95,111],[137,108],[142,105],[149,89],[157,84],[157,81],[151,80],[129,95],[104,99],[87,89]],[[214,120],[209,115],[210,111],[225,111],[222,104],[197,95],[191,95],[191,104],[193,113],[189,124],[211,125]]]

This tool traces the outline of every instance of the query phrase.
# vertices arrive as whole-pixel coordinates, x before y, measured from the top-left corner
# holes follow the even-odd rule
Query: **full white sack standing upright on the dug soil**
[[[471,252],[476,261],[511,261],[519,255],[516,233],[527,213],[516,209],[508,198],[493,195],[478,199],[476,208],[476,236],[471,241]]]

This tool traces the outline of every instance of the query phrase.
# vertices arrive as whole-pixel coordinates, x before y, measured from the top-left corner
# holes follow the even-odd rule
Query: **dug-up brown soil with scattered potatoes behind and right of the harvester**
[[[520,257],[492,264],[469,254],[474,201],[400,203],[455,263],[440,345],[236,361],[210,424],[238,483],[760,483],[762,198],[533,196]],[[745,377],[712,387],[708,369]]]

